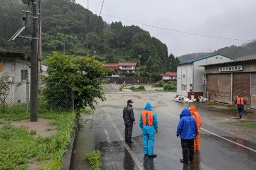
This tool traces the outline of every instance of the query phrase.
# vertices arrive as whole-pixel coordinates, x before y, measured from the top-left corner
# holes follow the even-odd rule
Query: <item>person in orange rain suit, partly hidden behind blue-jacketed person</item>
[[[195,122],[198,127],[198,135],[196,135],[196,137],[194,139],[194,150],[199,151],[199,149],[200,149],[201,118],[200,118],[200,114],[197,112],[196,107],[194,105],[189,107],[189,110],[191,112],[191,116],[193,118],[195,118]]]

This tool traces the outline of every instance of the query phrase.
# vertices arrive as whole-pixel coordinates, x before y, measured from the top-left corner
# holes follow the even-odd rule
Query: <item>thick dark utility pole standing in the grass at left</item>
[[[38,119],[38,0],[32,0],[31,17],[31,84],[30,84],[30,121]]]

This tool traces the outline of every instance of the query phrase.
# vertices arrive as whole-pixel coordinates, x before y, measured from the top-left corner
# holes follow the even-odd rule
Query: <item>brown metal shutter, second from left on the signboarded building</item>
[[[219,74],[218,102],[230,104],[231,74]]]

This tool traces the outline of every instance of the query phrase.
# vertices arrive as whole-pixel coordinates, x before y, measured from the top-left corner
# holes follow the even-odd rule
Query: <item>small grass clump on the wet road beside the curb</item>
[[[93,152],[86,154],[86,160],[89,162],[93,170],[101,170],[101,153],[99,150],[94,150]]]

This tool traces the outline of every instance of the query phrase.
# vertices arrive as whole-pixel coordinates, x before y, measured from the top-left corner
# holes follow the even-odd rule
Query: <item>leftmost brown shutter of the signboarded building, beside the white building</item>
[[[207,91],[209,98],[217,101],[218,100],[218,75],[207,74]]]

